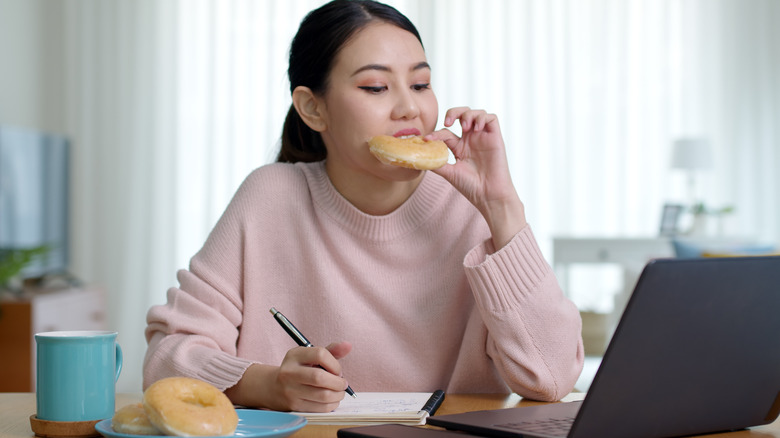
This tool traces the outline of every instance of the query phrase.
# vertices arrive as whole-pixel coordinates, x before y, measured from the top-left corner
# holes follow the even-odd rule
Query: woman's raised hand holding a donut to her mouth
[[[449,129],[460,122],[462,136]],[[455,164],[434,170],[460,191],[485,217],[496,249],[526,226],[525,210],[512,184],[504,139],[495,114],[468,107],[447,111],[445,129],[426,136],[442,140],[455,156]]]

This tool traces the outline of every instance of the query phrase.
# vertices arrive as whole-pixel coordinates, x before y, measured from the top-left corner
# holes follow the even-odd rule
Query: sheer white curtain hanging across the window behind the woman
[[[104,286],[138,391],[145,312],[165,300],[242,179],[273,161],[286,54],[322,1],[68,0],[73,272]],[[655,235],[682,200],[671,141],[706,136],[702,197],[727,231],[780,240],[780,3],[397,0],[423,36],[440,114],[499,115],[513,178],[554,235]]]

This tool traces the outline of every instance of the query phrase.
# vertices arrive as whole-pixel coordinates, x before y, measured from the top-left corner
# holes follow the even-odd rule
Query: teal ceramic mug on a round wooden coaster
[[[37,333],[36,417],[46,421],[94,421],[114,415],[122,348],[116,332]]]

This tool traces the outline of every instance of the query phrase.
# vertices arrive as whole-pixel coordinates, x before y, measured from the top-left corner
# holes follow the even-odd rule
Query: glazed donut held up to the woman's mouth
[[[371,153],[381,162],[417,170],[433,170],[447,164],[450,150],[443,141],[421,136],[396,138],[378,135],[368,140]]]

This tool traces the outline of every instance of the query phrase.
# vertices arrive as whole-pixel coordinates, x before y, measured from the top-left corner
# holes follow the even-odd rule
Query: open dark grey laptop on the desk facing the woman
[[[427,424],[494,437],[656,438],[744,429],[778,413],[780,257],[659,259],[643,269],[582,401]]]

